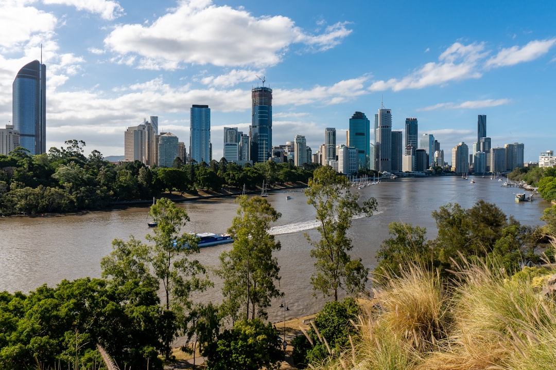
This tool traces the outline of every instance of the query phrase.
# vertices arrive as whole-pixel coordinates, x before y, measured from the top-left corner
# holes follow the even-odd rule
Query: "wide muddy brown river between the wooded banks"
[[[376,265],[376,251],[388,237],[388,224],[403,221],[426,227],[429,238],[436,234],[431,212],[448,202],[468,208],[484,199],[513,215],[525,225],[543,225],[539,220],[550,204],[538,198],[533,202],[515,202],[514,193],[520,189],[502,187],[502,182],[475,176],[475,184],[456,176],[422,179],[398,179],[357,190],[363,197],[374,196],[378,211],[370,218],[353,221],[350,237],[353,255],[361,257],[371,269]],[[286,196],[290,199],[286,200]],[[271,232],[281,242],[277,254],[281,266],[280,288],[290,310],[287,317],[318,311],[325,300],[312,297],[310,275],[313,260],[305,239],[307,232],[318,237],[315,212],[307,205],[301,189],[269,192],[267,199],[282,217]],[[237,205],[231,197],[185,202],[191,219],[186,231],[225,232],[236,214]],[[130,235],[143,238],[152,229],[146,225],[146,207],[125,210],[88,212],[83,215],[44,217],[4,217],[0,219],[0,291],[34,290],[43,283],[56,285],[62,279],[100,276],[100,260],[112,250],[115,238],[128,240]],[[217,266],[219,255],[231,245],[202,249],[193,256],[206,266]],[[220,286],[196,296],[201,301],[220,301]],[[272,321],[280,320],[283,311],[277,306],[269,310]]]

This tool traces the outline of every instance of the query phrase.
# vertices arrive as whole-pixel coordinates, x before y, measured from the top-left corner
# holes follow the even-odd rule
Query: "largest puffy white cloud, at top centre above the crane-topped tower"
[[[113,52],[148,59],[143,68],[175,69],[188,63],[266,67],[279,63],[292,44],[326,50],[350,32],[345,23],[336,23],[322,34],[305,34],[287,17],[254,17],[242,8],[191,0],[151,25],[117,26],[105,44]]]

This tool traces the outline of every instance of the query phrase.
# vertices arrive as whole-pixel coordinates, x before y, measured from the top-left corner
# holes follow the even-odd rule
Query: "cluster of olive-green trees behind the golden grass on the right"
[[[426,230],[410,224],[390,224],[389,239],[383,241],[374,270],[376,282],[400,276],[411,263],[421,268],[440,268],[442,273],[462,259],[496,260],[508,271],[541,260],[539,243],[543,232],[508,217],[496,205],[479,200],[470,209],[449,203],[433,211],[438,234],[426,240]],[[544,219],[552,220],[547,210]],[[549,224],[550,225],[550,224]]]

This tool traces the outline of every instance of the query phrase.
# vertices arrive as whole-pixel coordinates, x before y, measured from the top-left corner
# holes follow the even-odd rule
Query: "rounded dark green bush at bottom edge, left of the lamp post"
[[[236,322],[231,330],[220,333],[203,356],[211,370],[278,369],[284,358],[281,339],[271,323],[258,318]]]

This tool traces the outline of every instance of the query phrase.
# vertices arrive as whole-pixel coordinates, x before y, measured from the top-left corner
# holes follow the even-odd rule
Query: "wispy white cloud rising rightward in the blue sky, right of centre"
[[[450,81],[480,78],[482,74],[477,67],[478,60],[485,55],[483,50],[483,43],[463,45],[456,42],[440,54],[438,63],[426,63],[402,79],[377,81],[369,89],[371,91],[421,89]]]

